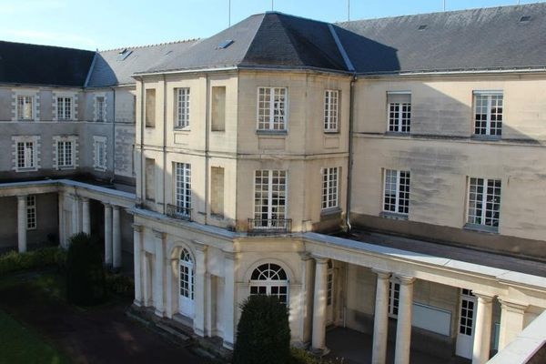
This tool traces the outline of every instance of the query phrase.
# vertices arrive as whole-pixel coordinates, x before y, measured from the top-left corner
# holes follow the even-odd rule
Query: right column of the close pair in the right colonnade
[[[411,310],[413,308],[413,282],[415,278],[399,277],[399,314],[396,325],[394,364],[410,363]]]

